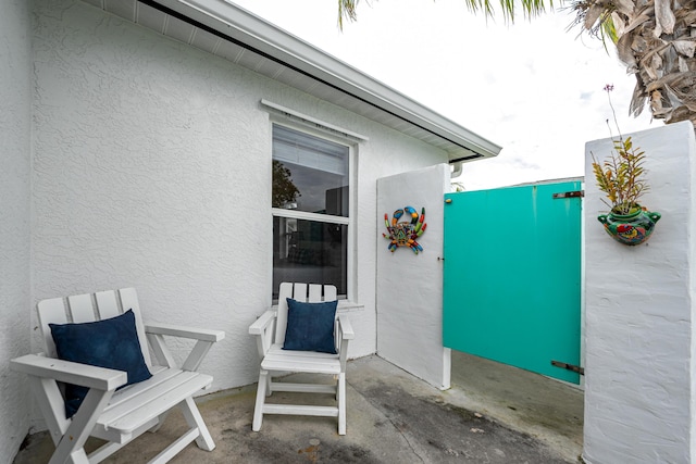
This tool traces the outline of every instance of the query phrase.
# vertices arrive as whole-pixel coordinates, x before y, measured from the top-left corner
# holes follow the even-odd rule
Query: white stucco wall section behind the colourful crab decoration
[[[386,233],[395,210],[425,208],[427,228],[418,242],[391,253],[384,238],[377,247],[377,354],[437,388],[449,388],[450,349],[443,346],[444,196],[449,192],[449,166],[426,168],[377,181],[380,229]],[[407,221],[408,214],[400,218]],[[410,216],[408,217],[410,221]]]

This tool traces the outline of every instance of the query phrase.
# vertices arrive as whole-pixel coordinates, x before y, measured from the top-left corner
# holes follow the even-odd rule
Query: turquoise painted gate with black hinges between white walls
[[[447,193],[444,343],[566,381],[580,375],[581,183]]]

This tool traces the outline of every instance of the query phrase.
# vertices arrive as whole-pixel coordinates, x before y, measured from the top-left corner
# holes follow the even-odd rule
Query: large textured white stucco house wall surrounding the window
[[[87,4],[36,13],[33,302],[134,286],[146,319],[226,331],[201,367],[213,390],[254,383],[247,329],[271,304],[263,98],[370,138],[353,184],[364,309],[349,355],[375,352],[376,179],[446,154]]]

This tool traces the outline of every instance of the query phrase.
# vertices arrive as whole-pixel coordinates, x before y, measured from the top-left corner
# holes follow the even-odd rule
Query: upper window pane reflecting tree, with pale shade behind
[[[273,208],[348,216],[346,146],[273,126]]]

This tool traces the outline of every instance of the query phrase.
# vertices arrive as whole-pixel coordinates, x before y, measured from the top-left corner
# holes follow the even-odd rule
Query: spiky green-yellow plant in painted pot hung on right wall
[[[605,86],[614,124],[619,129],[609,95],[611,90],[612,85]],[[660,213],[649,212],[638,203],[649,189],[644,162],[645,152],[633,146],[631,137],[624,139],[621,130],[619,137],[613,139],[613,153],[610,158],[599,163],[593,153],[592,167],[597,187],[605,192],[609,201],[602,201],[610,208],[609,214],[600,214],[597,220],[605,226],[607,234],[620,243],[643,243],[661,217]]]

